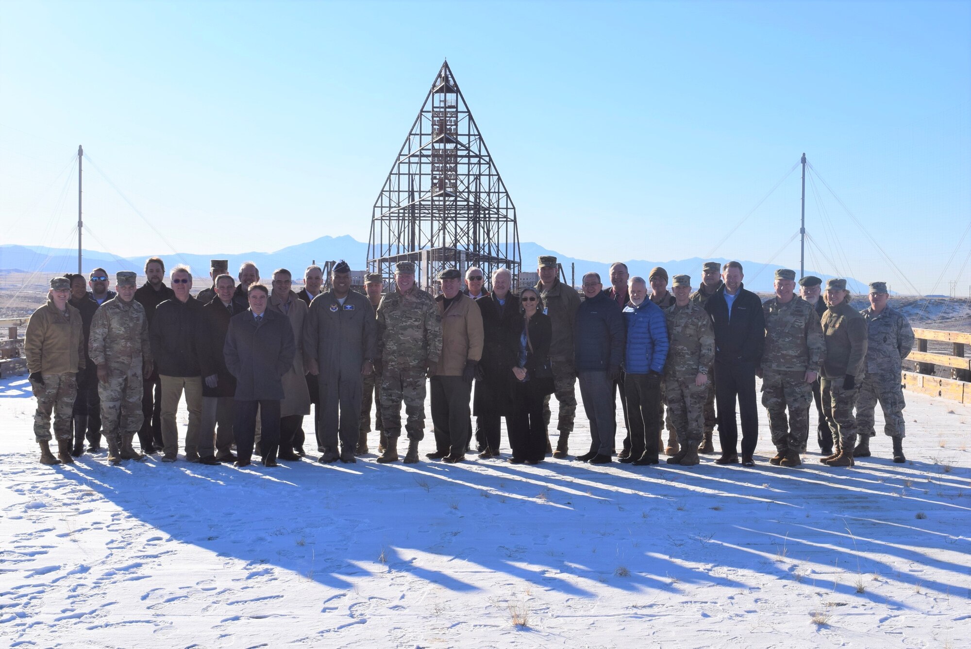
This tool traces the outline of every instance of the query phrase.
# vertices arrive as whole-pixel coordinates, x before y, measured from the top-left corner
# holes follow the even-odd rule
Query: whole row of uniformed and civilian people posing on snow
[[[319,461],[353,462],[369,452],[372,404],[377,461],[398,461],[403,403],[401,450],[406,463],[417,462],[427,379],[431,460],[464,461],[473,440],[480,458],[499,458],[503,418],[508,461],[568,458],[579,382],[590,444],[578,461],[608,463],[617,454],[656,464],[663,450],[668,463],[698,464],[699,453],[714,453],[717,425],[716,462],[753,466],[756,376],[777,450],[772,464],[801,463],[814,398],[821,461],[852,466],[870,455],[878,403],[893,460],[905,460],[900,372],[914,334],[887,306],[884,283],[870,285],[870,307],[858,312],[842,279],[822,292],[820,278],[803,277],[796,294],[794,271],[779,269],[775,296],[763,303],[745,289],[737,261],[703,264],[696,290],[689,276],[675,275],[670,291],[663,268],[645,280],[617,262],[606,289],[586,273],[582,298],[559,280],[555,257],[538,262],[539,282],[518,293],[508,269],[495,270],[485,290],[481,269],[466,270],[463,289],[450,268],[439,273],[434,297],[417,286],[408,261],[396,264],[389,290],[380,274],[366,275],[365,294],[351,290],[343,261],[329,290],[312,265],[296,292],[284,268],[267,287],[255,264],[234,278],[218,259],[212,286],[194,297],[190,270],[172,268],[166,286],[158,257],[146,262],[140,288],[130,271],[117,273],[114,292],[101,268],[86,286],[82,275],[53,278],[25,339],[40,461],[73,463],[84,439],[97,450],[102,433],[112,463],[151,453],[177,461],[184,398],[187,461],[246,466],[254,453],[264,466],[298,461],[313,409]],[[626,428],[619,453],[618,393]],[[555,447],[551,397],[559,402]]]

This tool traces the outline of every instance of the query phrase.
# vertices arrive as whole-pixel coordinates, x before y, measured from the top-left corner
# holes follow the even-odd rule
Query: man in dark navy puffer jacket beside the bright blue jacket
[[[577,456],[577,460],[606,464],[612,461],[617,434],[614,383],[623,362],[623,316],[619,304],[603,291],[597,273],[584,275],[584,295],[586,300],[577,309],[573,341],[591,441],[589,453]]]

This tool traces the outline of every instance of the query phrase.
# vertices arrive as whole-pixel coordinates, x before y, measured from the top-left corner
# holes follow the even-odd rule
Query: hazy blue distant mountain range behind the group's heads
[[[539,244],[523,242],[519,244],[522,255],[522,270],[535,271],[536,258],[541,255],[556,256],[563,264],[566,276],[570,277],[570,264],[574,264],[576,271],[575,282],[580,284],[581,277],[586,272],[600,273],[604,284],[609,284],[610,261],[594,261],[566,256],[562,253],[543,248]],[[235,271],[244,261],[252,261],[260,269],[264,279],[269,279],[276,268],[289,269],[294,277],[302,276],[303,269],[314,260],[322,264],[327,259],[346,259],[352,269],[363,269],[367,260],[367,244],[357,241],[349,235],[331,237],[323,236],[307,243],[288,246],[274,253],[225,253],[217,252],[211,255],[159,255],[165,261],[166,268],[177,263],[187,264],[192,268],[196,277],[206,277],[209,274],[209,260],[212,258],[229,259],[229,268]],[[140,275],[143,272],[146,256],[116,257],[99,251],[83,251],[84,272],[92,268],[104,268],[109,273],[119,270],[134,270]],[[689,259],[669,259],[667,261],[648,261],[645,259],[621,259],[627,264],[631,275],[641,275],[647,278],[654,266],[661,266],[668,272],[669,277],[677,274],[691,276],[691,284],[697,286],[701,281],[701,264],[705,261],[724,263],[728,259],[715,257],[703,259],[691,257]],[[778,265],[767,265],[763,262],[741,260],[745,267],[745,286],[750,290],[771,292],[775,269]],[[71,249],[42,248],[39,246],[18,246],[5,244],[0,246],[0,273],[3,272],[41,272],[50,275],[73,271],[78,267],[78,251]],[[818,271],[807,270],[807,275],[817,275],[823,281],[832,277]],[[867,290],[865,284],[850,278],[848,288],[854,293]],[[198,286],[198,284],[197,284]]]

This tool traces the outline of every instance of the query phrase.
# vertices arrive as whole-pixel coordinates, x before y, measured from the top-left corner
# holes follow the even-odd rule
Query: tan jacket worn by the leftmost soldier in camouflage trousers
[[[67,305],[64,317],[53,300],[34,312],[23,341],[27,371],[72,374],[84,369],[84,329],[81,312]]]

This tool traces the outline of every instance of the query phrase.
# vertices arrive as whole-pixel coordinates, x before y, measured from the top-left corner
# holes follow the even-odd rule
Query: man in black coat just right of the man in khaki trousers
[[[199,436],[199,462],[202,464],[236,460],[230,449],[233,445],[236,377],[229,373],[222,356],[229,319],[239,313],[233,302],[236,281],[229,275],[218,275],[214,286],[216,297],[202,307],[195,343],[202,371],[202,430]]]

